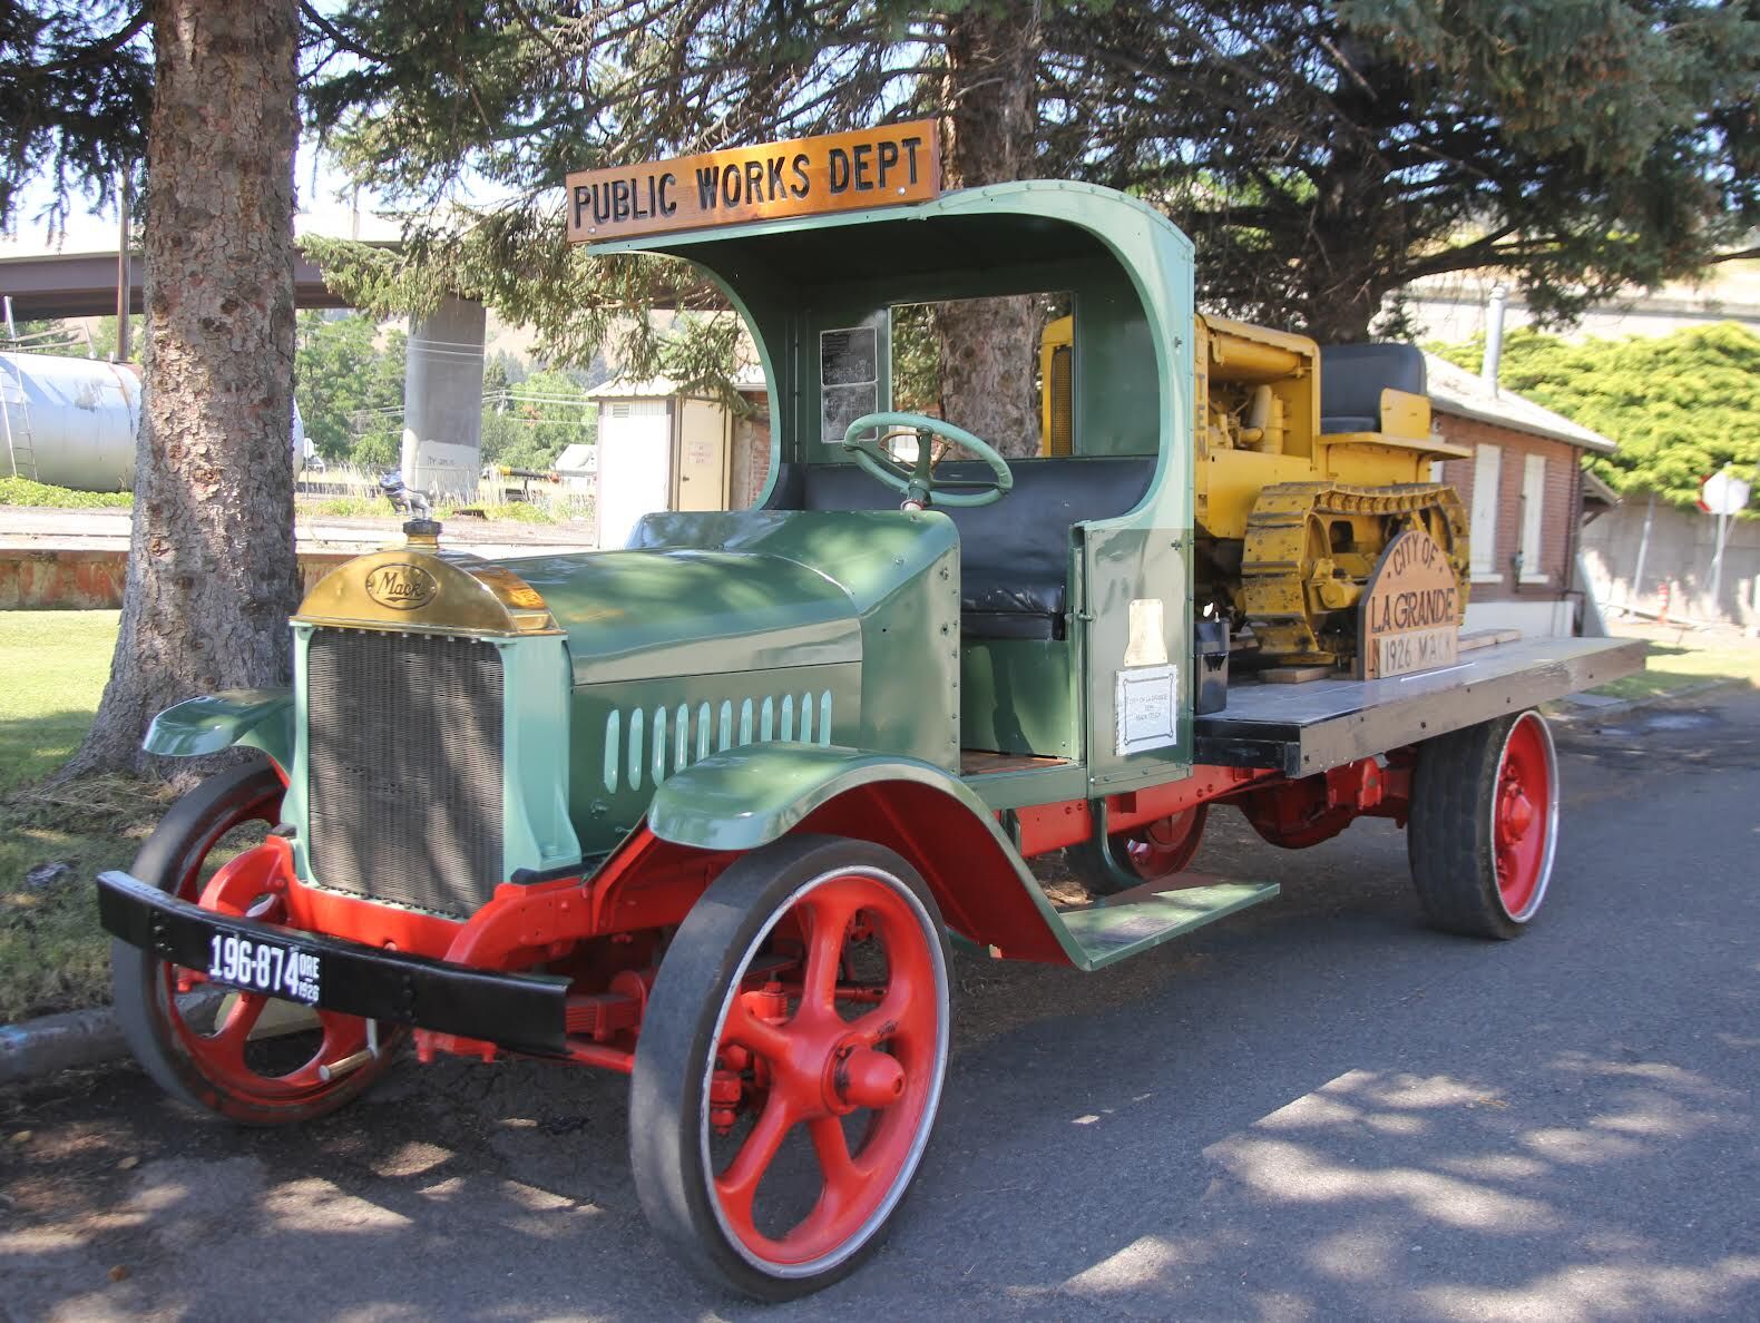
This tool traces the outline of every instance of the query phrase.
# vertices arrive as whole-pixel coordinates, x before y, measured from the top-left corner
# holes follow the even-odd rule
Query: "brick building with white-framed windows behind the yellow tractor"
[[[1586,450],[1614,443],[1531,399],[1492,391],[1477,373],[1426,354],[1431,412],[1443,440],[1471,459],[1436,464],[1468,508],[1473,595],[1466,628],[1577,633]]]

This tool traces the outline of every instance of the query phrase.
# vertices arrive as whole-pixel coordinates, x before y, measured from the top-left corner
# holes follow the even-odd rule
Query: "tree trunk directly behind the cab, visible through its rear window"
[[[1038,4],[972,5],[947,19],[950,183],[1026,178],[1038,135]],[[1035,299],[970,299],[936,313],[942,413],[1007,456],[1038,452]]]

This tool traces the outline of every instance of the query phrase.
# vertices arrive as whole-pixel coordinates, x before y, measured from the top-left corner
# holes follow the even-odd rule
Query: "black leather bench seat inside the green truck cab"
[[[959,528],[959,609],[968,639],[1061,639],[1070,524],[1125,514],[1149,489],[1155,459],[1017,459],[1014,491],[993,505],[947,507]],[[984,480],[979,461],[936,468]],[[896,510],[899,496],[854,464],[785,464],[776,510]]]

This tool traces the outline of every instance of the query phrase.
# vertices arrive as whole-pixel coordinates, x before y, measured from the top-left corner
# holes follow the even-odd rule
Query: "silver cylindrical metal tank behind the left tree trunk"
[[[56,354],[0,354],[0,477],[76,491],[132,491],[141,424],[136,369]],[[294,406],[294,466],[306,452]]]

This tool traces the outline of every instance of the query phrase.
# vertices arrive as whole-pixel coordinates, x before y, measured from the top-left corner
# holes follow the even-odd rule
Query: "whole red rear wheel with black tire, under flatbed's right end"
[[[1426,917],[1515,938],[1540,911],[1558,848],[1558,755],[1538,713],[1419,746],[1406,853]]]

